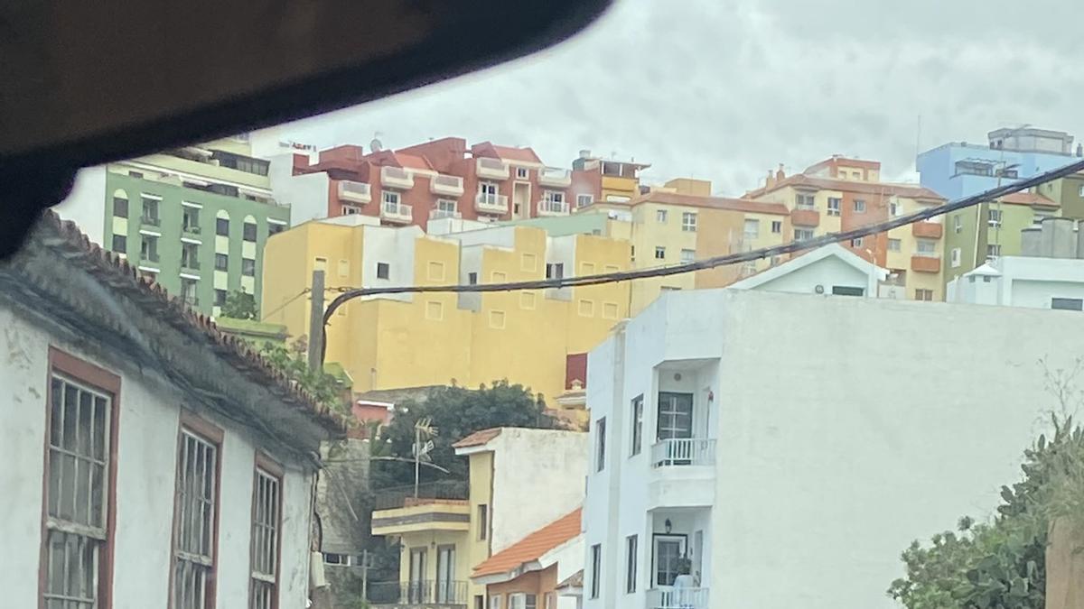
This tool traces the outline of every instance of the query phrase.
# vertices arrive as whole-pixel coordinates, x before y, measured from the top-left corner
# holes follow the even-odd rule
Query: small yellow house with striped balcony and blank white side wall
[[[474,568],[583,501],[577,480],[586,474],[586,433],[495,428],[454,448],[468,459],[468,483],[377,493],[372,532],[397,539],[402,548],[400,581],[383,586],[398,593],[400,606],[489,607],[486,585],[470,581]],[[370,597],[385,597],[380,587],[371,585]]]

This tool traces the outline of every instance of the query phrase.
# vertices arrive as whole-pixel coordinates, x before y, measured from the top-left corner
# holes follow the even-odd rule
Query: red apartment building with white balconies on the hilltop
[[[398,151],[363,154],[343,145],[318,163],[294,156],[294,174],[325,172],[327,216],[361,213],[385,224],[430,219],[519,220],[566,216],[601,198],[597,170],[547,167],[529,147],[443,138]]]

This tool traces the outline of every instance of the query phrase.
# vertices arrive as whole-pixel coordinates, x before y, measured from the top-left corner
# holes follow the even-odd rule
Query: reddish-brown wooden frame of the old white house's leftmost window
[[[111,396],[109,404],[109,464],[105,487],[105,543],[102,545],[98,566],[98,607],[113,607],[114,550],[117,530],[117,432],[120,429],[120,376],[56,347],[49,346],[49,366],[46,372],[46,426],[43,464],[41,470],[41,548],[38,555],[38,609],[46,607],[49,558],[49,439],[52,425],[53,374],[61,373]]]

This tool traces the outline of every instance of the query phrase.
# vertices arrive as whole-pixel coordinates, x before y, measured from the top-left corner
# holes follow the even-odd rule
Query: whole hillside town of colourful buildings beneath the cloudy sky
[[[0,589],[1080,609],[1084,146],[991,128],[741,192],[278,129],[86,169],[0,265]]]

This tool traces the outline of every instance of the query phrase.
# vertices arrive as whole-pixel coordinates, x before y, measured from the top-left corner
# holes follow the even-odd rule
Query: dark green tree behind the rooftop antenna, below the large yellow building
[[[380,450],[405,461],[374,462],[374,488],[414,482],[414,466],[410,463],[413,458],[414,425],[426,417],[438,431],[429,453],[431,463],[449,470],[449,474],[423,467],[423,482],[466,480],[467,464],[455,456],[452,444],[475,431],[491,427],[556,427],[555,419],[545,413],[542,398],[521,385],[499,380],[478,389],[437,387],[429,391],[425,400],[408,400],[396,405],[395,417],[380,435]]]

